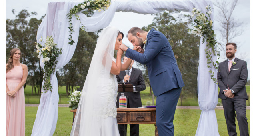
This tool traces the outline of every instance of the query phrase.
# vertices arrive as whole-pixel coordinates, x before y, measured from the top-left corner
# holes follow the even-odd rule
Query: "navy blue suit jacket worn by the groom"
[[[144,53],[127,49],[125,56],[141,64],[146,64],[155,96],[184,86],[172,47],[161,32],[151,29],[147,35]]]

